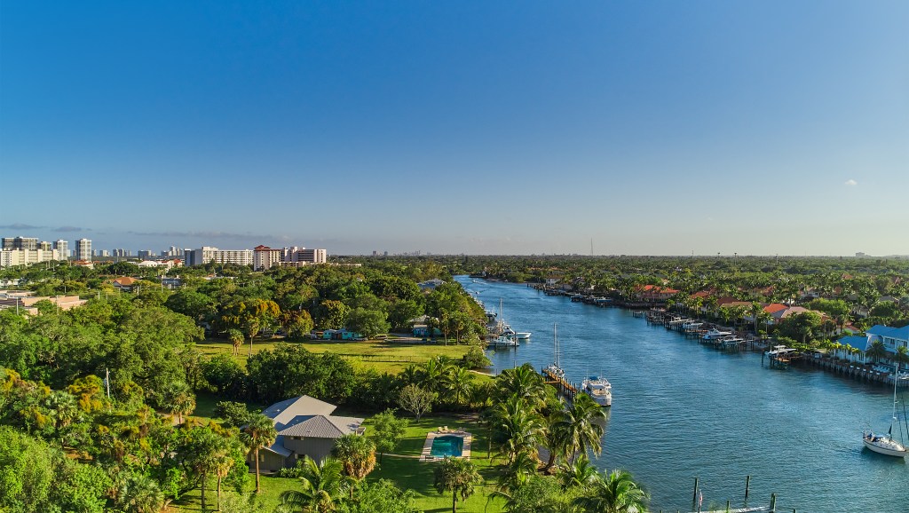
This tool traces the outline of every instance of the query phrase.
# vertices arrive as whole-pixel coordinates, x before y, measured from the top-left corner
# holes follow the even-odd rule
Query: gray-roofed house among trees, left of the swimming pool
[[[332,415],[335,408],[309,396],[292,397],[265,408],[262,414],[275,422],[278,436],[274,444],[259,451],[259,468],[266,472],[292,468],[305,456],[322,461],[337,438],[351,433],[363,435],[362,418]],[[253,453],[246,458],[250,466],[255,464]]]

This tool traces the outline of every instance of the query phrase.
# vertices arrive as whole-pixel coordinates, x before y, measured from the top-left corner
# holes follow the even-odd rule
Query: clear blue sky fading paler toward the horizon
[[[909,254],[909,2],[2,2],[0,235]]]

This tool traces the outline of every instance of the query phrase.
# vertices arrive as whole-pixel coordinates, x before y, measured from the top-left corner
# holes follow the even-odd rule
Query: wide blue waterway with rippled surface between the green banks
[[[861,438],[864,428],[889,425],[892,388],[770,369],[758,353],[716,351],[624,309],[457,279],[487,308],[497,310],[501,298],[514,330],[533,332],[521,347],[489,352],[496,373],[551,363],[557,323],[566,376],[609,379],[613,407],[595,464],[629,470],[654,511],[692,510],[695,477],[704,510],[726,500],[741,507],[747,475],[749,506],[775,493],[781,512],[909,511],[909,465],[870,452]]]

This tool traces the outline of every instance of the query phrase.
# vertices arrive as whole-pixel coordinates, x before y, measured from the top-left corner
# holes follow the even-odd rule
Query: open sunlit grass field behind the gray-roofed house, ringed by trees
[[[274,349],[280,339],[257,339],[253,342],[253,352],[265,349]],[[410,364],[422,364],[431,358],[443,356],[460,358],[467,352],[467,346],[445,344],[441,342],[396,342],[385,340],[367,340],[357,342],[353,340],[311,340],[305,342],[288,342],[300,345],[314,353],[333,353],[344,355],[356,369],[375,368],[379,372],[397,374]],[[234,351],[232,344],[216,338],[206,339],[196,344],[196,347],[206,356],[219,354],[231,355]],[[244,367],[249,355],[249,343],[240,348],[236,361]]]

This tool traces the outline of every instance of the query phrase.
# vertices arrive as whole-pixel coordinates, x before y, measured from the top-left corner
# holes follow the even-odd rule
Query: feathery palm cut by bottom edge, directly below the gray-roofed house
[[[281,494],[281,504],[291,510],[306,513],[325,513],[335,510],[335,501],[345,497],[351,488],[351,478],[344,475],[344,466],[335,458],[325,458],[322,465],[313,458],[303,460],[302,491],[288,490]]]

